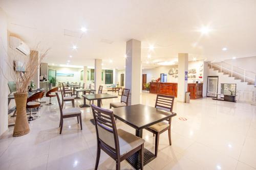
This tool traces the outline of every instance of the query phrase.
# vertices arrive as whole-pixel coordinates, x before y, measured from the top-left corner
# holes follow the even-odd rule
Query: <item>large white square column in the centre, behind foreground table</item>
[[[140,104],[141,89],[141,42],[131,39],[126,42],[125,88],[131,89],[129,105]]]

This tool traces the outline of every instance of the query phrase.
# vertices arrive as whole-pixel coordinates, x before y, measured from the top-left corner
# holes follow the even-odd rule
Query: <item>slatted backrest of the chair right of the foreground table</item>
[[[175,96],[172,95],[157,94],[155,108],[172,112],[174,106],[174,98]]]

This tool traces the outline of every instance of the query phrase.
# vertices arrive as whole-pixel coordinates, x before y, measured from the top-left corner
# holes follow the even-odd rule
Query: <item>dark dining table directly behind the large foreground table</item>
[[[108,93],[99,93],[99,94],[83,94],[83,105],[86,105],[86,99],[89,101],[95,101],[97,100],[97,106],[101,107],[101,100],[103,99],[113,99],[113,98],[117,98],[116,95],[112,95],[112,94],[108,94]],[[90,107],[89,105],[87,105],[86,107]],[[90,119],[91,123],[93,125],[95,125],[95,120],[94,119]]]

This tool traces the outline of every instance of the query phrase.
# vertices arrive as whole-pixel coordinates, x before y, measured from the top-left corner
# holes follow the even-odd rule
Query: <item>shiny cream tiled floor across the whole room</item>
[[[155,98],[154,94],[142,93],[141,103],[154,106]],[[119,100],[103,100],[103,108]],[[81,103],[76,100],[75,105]],[[0,139],[0,169],[94,169],[96,134],[89,121],[92,113],[90,108],[81,110],[82,131],[76,118],[68,118],[59,135],[57,105],[41,107],[41,117],[30,124],[28,135],[14,138],[13,128],[9,128]],[[174,112],[173,145],[168,145],[167,133],[161,134],[158,157],[144,169],[256,169],[256,106],[199,99],[190,100],[190,104],[175,102]],[[120,120],[117,127],[135,134]],[[143,138],[145,147],[154,152],[153,135],[144,130]],[[99,168],[115,169],[115,162],[101,152]],[[133,169],[126,161],[121,168]]]

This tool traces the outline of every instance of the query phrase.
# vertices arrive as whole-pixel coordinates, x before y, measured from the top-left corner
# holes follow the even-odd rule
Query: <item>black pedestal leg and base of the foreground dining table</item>
[[[137,130],[136,129],[136,136],[142,138],[142,129]],[[145,166],[147,163],[151,162],[153,159],[155,159],[156,156],[152,152],[148,151],[144,148],[144,156],[143,156],[143,165]],[[136,152],[135,154],[131,155],[126,159],[133,167],[136,169],[140,169],[140,155],[139,152]]]

